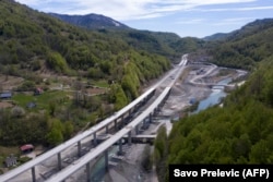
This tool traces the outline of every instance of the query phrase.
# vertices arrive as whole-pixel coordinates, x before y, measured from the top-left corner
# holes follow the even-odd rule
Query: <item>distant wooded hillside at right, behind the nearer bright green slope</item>
[[[226,35],[224,40],[211,44],[209,52],[213,56],[214,63],[251,70],[272,54],[273,20],[254,21]]]

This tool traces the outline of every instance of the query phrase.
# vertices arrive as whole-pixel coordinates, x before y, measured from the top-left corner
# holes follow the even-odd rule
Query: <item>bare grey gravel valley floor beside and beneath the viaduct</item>
[[[210,70],[211,68],[205,68]],[[204,72],[205,72],[204,69]],[[216,68],[210,74],[205,75],[204,78],[200,80],[200,82],[204,83],[217,83],[227,77],[232,77],[233,80],[238,78],[241,75],[245,75],[246,72],[242,71],[233,71],[228,72],[226,75],[219,75],[219,71],[222,69]],[[194,98],[197,101],[200,101],[206,98],[211,93],[211,88],[201,87],[197,85],[192,85],[189,82],[195,77],[194,69],[189,70],[189,74],[179,80],[176,85],[173,87],[170,95],[162,108],[159,113],[159,118],[167,117],[168,119],[161,119],[157,121],[153,121],[153,124],[149,128],[149,130],[144,131],[143,134],[154,133],[158,125],[165,124],[167,132],[171,130],[170,120],[182,117],[186,113],[186,109],[192,106],[190,104],[190,99]],[[144,172],[141,169],[141,156],[143,154],[145,145],[149,144],[133,144],[127,149],[124,154],[124,160],[120,161],[118,166],[111,167],[109,172],[105,175],[105,182],[157,182],[157,175],[155,169],[150,173]]]

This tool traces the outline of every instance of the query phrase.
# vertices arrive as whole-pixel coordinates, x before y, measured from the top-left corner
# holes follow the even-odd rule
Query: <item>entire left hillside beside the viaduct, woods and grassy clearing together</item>
[[[12,97],[0,99],[0,145],[57,145],[126,106],[169,69],[165,57],[119,37],[1,0],[0,93]],[[37,88],[43,93],[33,94]]]

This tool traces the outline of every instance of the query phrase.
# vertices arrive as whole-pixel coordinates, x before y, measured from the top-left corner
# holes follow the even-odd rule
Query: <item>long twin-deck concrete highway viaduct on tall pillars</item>
[[[51,182],[58,182],[58,181],[64,181],[67,178],[72,175],[75,171],[78,171],[82,167],[86,167],[86,171],[90,171],[90,161],[96,158],[100,154],[105,154],[106,157],[106,166],[108,166],[108,148],[112,146],[115,143],[119,142],[121,143],[121,139],[124,135],[128,135],[128,142],[131,143],[131,134],[134,130],[138,134],[139,124],[143,122],[146,118],[150,118],[158,110],[158,108],[164,104],[165,99],[168,97],[168,94],[171,89],[171,86],[176,82],[176,80],[179,77],[181,72],[183,71],[185,66],[187,64],[187,56],[182,57],[181,62],[177,68],[175,68],[169,75],[173,75],[171,81],[168,82],[167,86],[164,88],[164,90],[161,93],[161,95],[152,102],[150,106],[141,112],[136,118],[134,118],[131,122],[129,122],[127,125],[122,124],[123,128],[119,131],[117,131],[111,137],[106,139],[105,142],[97,145],[97,135],[102,133],[102,130],[105,131],[105,133],[108,133],[109,128],[117,129],[118,123],[124,122],[124,117],[130,116],[132,112],[136,111],[142,105],[147,102],[150,98],[155,94],[156,88],[161,85],[161,82],[149,88],[143,95],[141,95],[139,98],[133,100],[131,104],[126,106],[123,109],[119,110],[111,117],[105,119],[100,123],[96,124],[95,126],[91,128],[90,130],[86,130],[85,132],[74,136],[73,138],[60,144],[59,146],[52,148],[51,150],[36,157],[35,159],[0,175],[1,182],[11,181],[13,182],[14,179],[31,170],[31,180],[36,182],[37,180],[37,173],[36,168],[41,162],[48,160],[49,158],[52,158],[56,156],[57,159],[57,169],[58,172],[56,174],[52,174],[51,178],[49,178],[47,181]],[[169,75],[165,77],[168,78]],[[88,153],[86,153],[84,156],[82,156],[82,142],[84,139],[92,138],[94,148],[91,148]],[[67,166],[66,168],[62,168],[63,159],[61,157],[61,154],[64,150],[70,150],[70,148],[73,148],[76,146],[78,148],[78,157],[75,161],[73,161],[71,165]],[[120,145],[121,146],[121,145]],[[121,148],[120,148],[121,149]],[[16,180],[15,180],[16,181]],[[90,181],[90,177],[87,177],[87,181]]]

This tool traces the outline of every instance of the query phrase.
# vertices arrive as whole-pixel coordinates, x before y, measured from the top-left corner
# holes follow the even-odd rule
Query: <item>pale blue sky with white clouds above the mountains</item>
[[[258,19],[273,17],[272,0],[16,0],[59,14],[103,14],[132,28],[181,37],[229,33]]]

